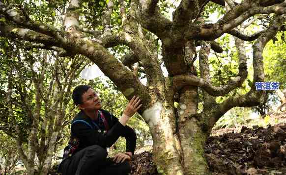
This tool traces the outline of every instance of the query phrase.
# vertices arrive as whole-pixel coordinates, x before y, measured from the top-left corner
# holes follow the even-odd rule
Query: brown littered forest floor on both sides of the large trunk
[[[286,175],[286,112],[268,122],[213,131],[205,145],[212,175]],[[158,175],[148,149],[135,154],[131,167],[132,175]]]

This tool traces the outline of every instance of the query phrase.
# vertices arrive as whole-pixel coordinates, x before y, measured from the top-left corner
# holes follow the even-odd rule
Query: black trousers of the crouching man
[[[131,172],[127,161],[115,163],[107,157],[107,151],[98,145],[86,147],[66,158],[59,165],[63,175],[128,175]]]

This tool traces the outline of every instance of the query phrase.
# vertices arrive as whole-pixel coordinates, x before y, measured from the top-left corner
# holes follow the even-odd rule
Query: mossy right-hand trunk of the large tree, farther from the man
[[[185,175],[207,175],[204,144],[208,135],[200,127],[198,87],[185,86],[179,97],[178,132]]]

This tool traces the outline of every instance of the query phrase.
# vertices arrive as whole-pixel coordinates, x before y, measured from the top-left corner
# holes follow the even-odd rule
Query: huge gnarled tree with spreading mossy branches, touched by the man
[[[263,91],[256,91],[255,83],[264,81],[262,51],[278,31],[285,30],[286,12],[285,0],[212,1],[222,7],[208,7],[209,0],[182,0],[175,7],[172,20],[166,11],[173,5],[159,0],[39,0],[29,4],[0,1],[0,35],[32,43],[30,48],[57,50],[59,56],[89,58],[127,99],[134,95],[142,99],[139,113],[152,135],[158,172],[206,175],[209,171],[203,146],[213,125],[233,107],[250,107],[260,102]],[[37,16],[44,16],[45,23],[35,17],[37,8],[43,9]],[[208,23],[207,11],[213,9],[222,10],[224,15],[217,22]],[[261,31],[247,35],[239,26],[248,19],[256,21],[256,14],[270,13],[274,14]],[[62,15],[63,25],[55,25],[53,19]],[[216,85],[212,83],[208,56],[210,49],[222,50],[213,40],[225,33],[237,37],[238,72],[229,76],[228,82]],[[216,101],[216,97],[239,88],[247,78],[243,40],[254,41],[251,89],[246,94]],[[126,50],[121,62],[117,50]],[[197,57],[198,70],[193,65]],[[167,77],[163,75],[162,62],[169,73]],[[146,76],[146,86],[140,82],[139,72]],[[199,112],[200,96],[203,105]],[[174,102],[178,103],[177,108]],[[36,123],[38,116],[33,116]]]

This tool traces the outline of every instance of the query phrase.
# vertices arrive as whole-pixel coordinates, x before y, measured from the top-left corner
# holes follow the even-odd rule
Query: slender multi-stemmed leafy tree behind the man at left
[[[63,126],[73,116],[70,103],[75,77],[86,66],[84,59],[58,57],[47,51],[30,52],[20,43],[2,47],[1,123],[17,139],[17,150],[28,174],[46,175]],[[35,59],[37,58],[37,59]],[[8,128],[8,129],[7,129]],[[27,149],[26,149],[27,148]],[[37,162],[35,162],[37,160]]]

